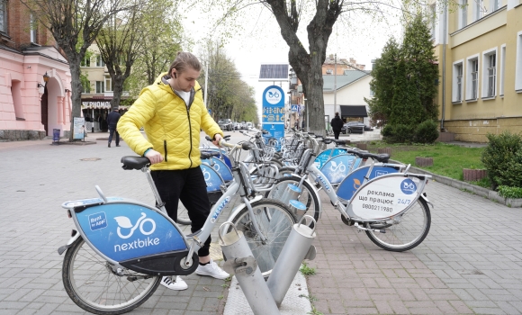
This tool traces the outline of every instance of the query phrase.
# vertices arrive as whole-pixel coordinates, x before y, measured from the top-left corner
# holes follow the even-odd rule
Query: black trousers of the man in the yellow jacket
[[[202,169],[198,167],[181,170],[151,171],[161,200],[165,202],[166,213],[177,222],[177,203],[181,200],[192,220],[192,232],[201,229],[211,213],[211,202],[207,196],[207,184]],[[211,237],[198,251],[200,257],[210,255]]]

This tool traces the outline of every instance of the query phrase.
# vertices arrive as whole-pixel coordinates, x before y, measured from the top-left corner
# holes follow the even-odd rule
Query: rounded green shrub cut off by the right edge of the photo
[[[490,140],[490,143],[482,152],[481,159],[488,170],[493,188],[498,185],[512,185],[508,183],[517,181],[517,178],[522,177],[519,173],[522,171],[522,166],[520,166],[522,157],[517,154],[522,148],[522,138],[520,135],[512,134],[509,131],[504,131],[500,135],[488,133],[486,137]],[[509,175],[509,172],[515,172],[515,174]]]

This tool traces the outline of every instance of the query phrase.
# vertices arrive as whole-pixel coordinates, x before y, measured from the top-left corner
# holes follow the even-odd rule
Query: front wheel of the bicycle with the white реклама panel
[[[281,193],[284,192],[284,189],[288,184],[298,185],[299,182],[301,182],[301,177],[296,175],[280,177],[272,190],[266,192],[266,198],[279,200],[281,198]],[[302,193],[299,195],[297,200],[306,206],[307,214],[312,215],[311,213],[313,213],[313,219],[317,222],[320,216],[320,196],[315,193],[311,184],[306,181],[302,182]],[[311,225],[311,227],[313,227],[313,225]]]

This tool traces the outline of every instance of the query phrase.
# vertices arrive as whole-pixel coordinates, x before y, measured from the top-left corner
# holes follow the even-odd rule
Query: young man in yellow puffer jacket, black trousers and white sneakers
[[[118,131],[129,147],[150,160],[151,175],[168,216],[177,220],[181,200],[192,220],[193,232],[202,228],[211,211],[199,167],[200,129],[212,137],[214,144],[223,136],[203,103],[202,88],[196,81],[201,68],[193,54],[178,52],[168,72],[144,88],[118,121]],[[139,131],[141,126],[147,139]],[[211,260],[210,244],[209,237],[198,251],[200,266],[196,274],[225,279],[229,274]],[[187,288],[179,276],[164,277],[161,284],[172,290]]]

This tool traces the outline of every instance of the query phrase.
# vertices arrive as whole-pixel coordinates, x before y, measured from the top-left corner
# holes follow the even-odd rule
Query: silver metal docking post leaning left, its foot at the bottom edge
[[[234,230],[221,236],[224,231],[223,226],[231,225]],[[243,233],[238,231],[231,222],[224,222],[220,226],[219,234],[220,247],[227,262],[223,270],[230,275],[236,275],[239,286],[245,293],[247,302],[255,315],[279,314],[274,298],[268,290],[265,278],[257,268],[257,262],[252,255],[252,250],[248,247],[247,239]]]

